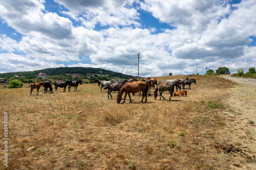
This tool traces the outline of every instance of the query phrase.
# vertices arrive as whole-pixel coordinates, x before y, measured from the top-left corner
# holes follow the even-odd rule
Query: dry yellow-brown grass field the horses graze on
[[[157,77],[165,79],[185,76]],[[195,76],[187,97],[124,104],[108,100],[98,84],[36,96],[0,86],[1,122],[8,112],[8,167],[2,169],[253,169],[252,131],[231,130],[239,112],[227,104],[239,85],[217,76]],[[7,85],[5,85],[7,86]],[[154,91],[154,90],[153,90]],[[152,92],[153,92],[152,91]],[[255,96],[255,90],[252,90]],[[124,96],[124,94],[123,94]],[[128,96],[127,96],[128,97]],[[126,98],[129,99],[129,98]],[[248,98],[247,100],[250,100]],[[51,109],[49,109],[51,108]],[[230,116],[233,115],[234,117]],[[1,128],[1,160],[5,152]],[[246,132],[246,133],[243,133]],[[35,147],[32,151],[27,151]]]

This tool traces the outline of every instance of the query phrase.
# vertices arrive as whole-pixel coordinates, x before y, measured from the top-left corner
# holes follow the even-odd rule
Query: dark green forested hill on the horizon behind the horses
[[[102,75],[109,75],[112,77],[119,77],[122,79],[128,79],[131,78],[131,75],[124,75],[120,72],[114,72],[106,69],[102,69]],[[1,78],[4,77],[12,77],[12,76],[36,76],[39,74],[39,72],[48,74],[49,76],[54,75],[64,75],[64,74],[81,74],[81,75],[87,75],[87,74],[100,74],[100,68],[91,68],[91,67],[58,67],[58,68],[46,68],[46,69],[40,69],[35,71],[19,71],[19,72],[6,72],[3,74],[0,74]]]

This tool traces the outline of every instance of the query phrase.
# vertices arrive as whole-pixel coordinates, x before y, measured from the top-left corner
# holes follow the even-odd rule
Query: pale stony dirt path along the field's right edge
[[[243,160],[236,160],[233,169],[256,169],[256,80],[222,76],[234,82],[228,89],[228,106],[223,115],[227,117],[226,136],[243,150]]]

